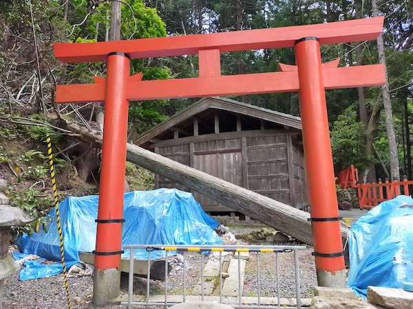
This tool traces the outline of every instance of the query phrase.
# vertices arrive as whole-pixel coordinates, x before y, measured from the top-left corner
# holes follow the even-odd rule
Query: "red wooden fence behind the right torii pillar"
[[[386,179],[385,183],[359,183],[359,173],[353,165],[346,170],[341,171],[337,175],[337,185],[342,189],[354,187],[359,194],[360,209],[372,209],[381,202],[391,200],[400,194],[409,196],[409,185],[413,185],[413,181],[407,181],[407,177],[403,177],[403,181],[394,180],[391,183]]]

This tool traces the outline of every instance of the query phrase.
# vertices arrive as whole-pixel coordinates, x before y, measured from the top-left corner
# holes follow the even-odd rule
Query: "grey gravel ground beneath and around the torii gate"
[[[234,234],[249,233],[257,227],[237,227],[231,228]],[[226,234],[228,236],[228,234]],[[224,244],[230,244],[228,239],[223,237]],[[232,243],[233,244],[233,243]],[[315,273],[315,262],[311,255],[312,247],[299,253],[301,297],[313,297],[313,287],[317,285],[317,276]],[[204,255],[204,263],[209,259]],[[186,258],[186,286],[187,293],[198,282],[200,277],[201,258],[199,253],[187,253]],[[293,253],[279,254],[279,290],[281,297],[294,297],[295,295],[295,275],[294,275],[294,258]],[[175,258],[171,263],[172,270],[168,277],[168,293],[182,295],[182,261]],[[276,297],[277,280],[275,260],[269,256],[269,253],[260,254],[261,271],[261,290],[262,296]],[[251,257],[246,264],[246,275],[244,278],[243,296],[255,296],[257,287],[256,273],[256,255],[251,253]],[[97,307],[92,304],[93,294],[93,277],[69,277],[70,296],[72,299],[72,308],[127,308],[127,306],[107,305]],[[127,294],[128,277],[123,274],[120,282],[120,293]],[[164,295],[165,283],[151,280],[151,295]],[[146,279],[134,278],[134,294],[146,295]],[[188,294],[187,294],[188,295]],[[30,309],[55,309],[67,308],[67,295],[64,288],[63,274],[53,277],[19,280],[19,273],[15,273],[4,280],[3,309],[30,308]],[[138,307],[135,307],[138,308]]]

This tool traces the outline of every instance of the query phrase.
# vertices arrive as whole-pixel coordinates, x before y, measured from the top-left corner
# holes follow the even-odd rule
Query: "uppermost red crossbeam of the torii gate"
[[[316,36],[320,45],[374,40],[381,33],[383,16],[336,23],[294,27],[143,38],[98,43],[56,43],[54,52],[62,62],[105,61],[111,52],[123,52],[134,58],[198,54],[202,49],[237,52],[250,49],[293,47],[295,41]]]

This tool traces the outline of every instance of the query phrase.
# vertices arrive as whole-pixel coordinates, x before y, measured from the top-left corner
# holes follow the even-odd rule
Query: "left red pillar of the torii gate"
[[[123,218],[128,113],[125,85],[129,79],[129,63],[129,58],[122,55],[112,55],[107,59],[99,220]],[[96,251],[113,252],[121,248],[122,223],[98,222]],[[98,270],[119,268],[120,254],[95,255],[94,265]]]

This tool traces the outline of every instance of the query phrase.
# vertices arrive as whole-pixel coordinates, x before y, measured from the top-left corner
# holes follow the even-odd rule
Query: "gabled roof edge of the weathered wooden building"
[[[142,133],[134,144],[142,145],[147,143],[151,139],[156,139],[162,133],[167,130],[173,130],[179,128],[183,123],[193,121],[193,117],[206,113],[207,111],[226,111],[230,113],[237,113],[246,117],[253,117],[256,119],[262,119],[266,122],[279,124],[286,128],[294,128],[301,130],[301,118],[286,113],[280,113],[272,111],[268,108],[262,108],[235,100],[226,98],[211,97],[202,98],[198,102],[193,103],[191,106],[185,108],[183,111],[176,113],[165,122],[158,124],[145,133]]]

